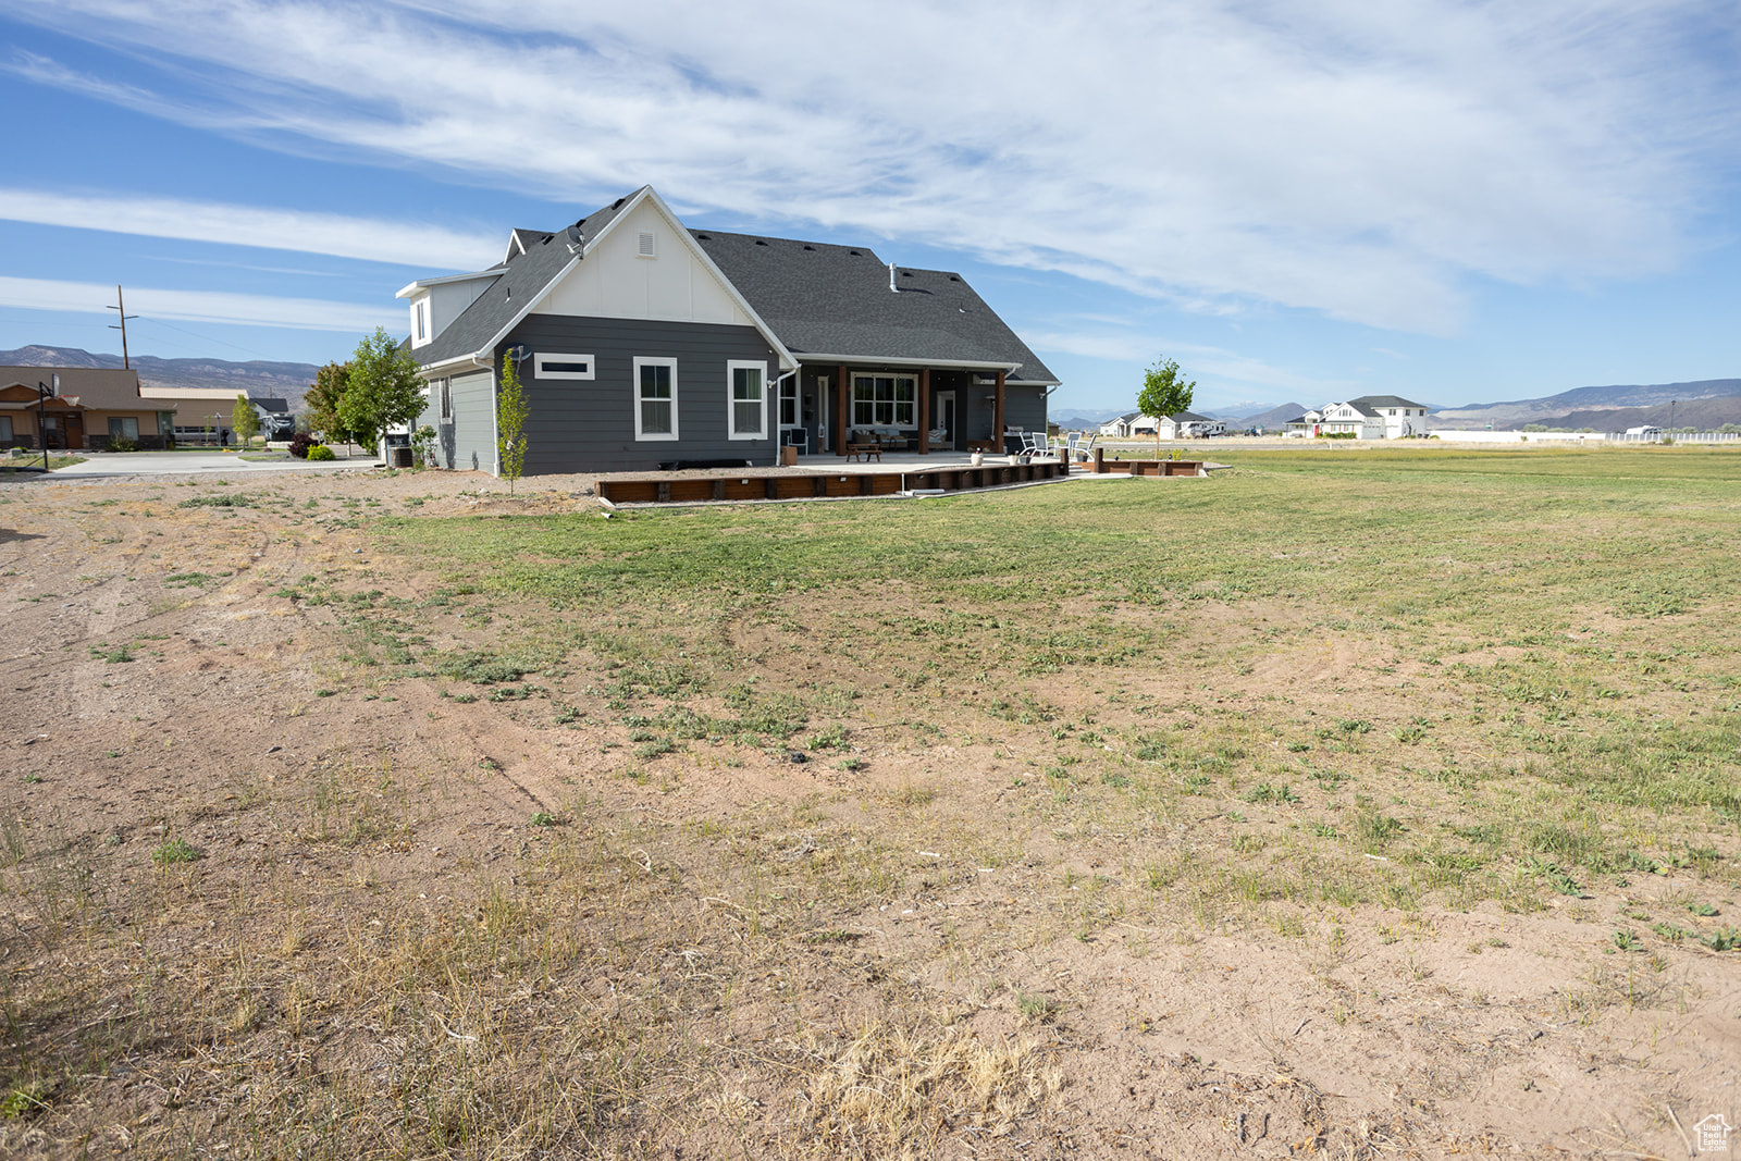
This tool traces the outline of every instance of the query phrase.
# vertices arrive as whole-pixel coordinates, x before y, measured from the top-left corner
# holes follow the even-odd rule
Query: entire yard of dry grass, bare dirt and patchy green
[[[0,482],[0,1154],[1687,1156],[1741,454]]]

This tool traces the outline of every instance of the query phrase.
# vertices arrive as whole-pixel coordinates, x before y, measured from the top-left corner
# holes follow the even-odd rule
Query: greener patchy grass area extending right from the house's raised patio
[[[1240,858],[1191,874],[1224,895],[1532,907],[1555,876],[1734,879],[1741,454],[1227,458],[1207,480],[380,534],[461,601],[512,602],[510,653],[609,675],[672,745],[684,714],[740,721],[736,696],[790,735],[1006,742],[1039,755],[1045,809],[1083,818],[1222,799]],[[750,627],[757,649],[731,644]]]

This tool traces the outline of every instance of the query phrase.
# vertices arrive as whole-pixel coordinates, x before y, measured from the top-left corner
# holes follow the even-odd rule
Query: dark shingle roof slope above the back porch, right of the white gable
[[[867,245],[689,232],[789,352],[848,359],[1022,364],[1012,379],[1057,383],[1039,357],[947,270],[895,268]]]

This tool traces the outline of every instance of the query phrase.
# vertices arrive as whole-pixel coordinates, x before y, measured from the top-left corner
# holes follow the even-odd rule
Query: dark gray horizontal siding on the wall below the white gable
[[[770,465],[776,460],[775,353],[754,327],[639,319],[529,315],[503,346],[526,345],[533,353],[592,355],[592,379],[538,379],[536,360],[521,364],[531,418],[526,423],[526,475],[562,472],[625,472],[676,460],[736,460]],[[635,440],[634,360],[677,360],[676,440]],[[766,364],[766,432],[759,440],[728,439],[726,360]],[[458,379],[454,381],[458,383]],[[460,397],[454,393],[454,411]],[[487,419],[486,419],[487,433]],[[494,449],[491,444],[491,460]],[[463,465],[468,466],[468,465]]]

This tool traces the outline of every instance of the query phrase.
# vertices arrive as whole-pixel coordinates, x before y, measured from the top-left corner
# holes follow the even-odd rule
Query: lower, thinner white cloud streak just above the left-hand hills
[[[0,275],[0,306],[103,315],[108,313],[108,303],[113,298],[113,285]],[[145,315],[146,319],[233,322],[291,327],[294,331],[341,331],[346,334],[373,331],[378,325],[402,329],[406,324],[404,312],[392,306],[331,303],[319,298],[226,294],[221,291],[162,291],[155,287],[127,287],[127,312]]]

